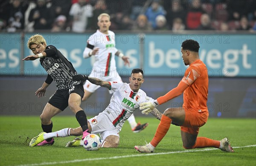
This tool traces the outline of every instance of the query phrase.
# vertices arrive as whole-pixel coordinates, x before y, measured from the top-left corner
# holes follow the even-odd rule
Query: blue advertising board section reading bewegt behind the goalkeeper
[[[147,35],[144,69],[150,75],[183,76],[181,44],[197,40],[209,77],[256,76],[255,35]]]

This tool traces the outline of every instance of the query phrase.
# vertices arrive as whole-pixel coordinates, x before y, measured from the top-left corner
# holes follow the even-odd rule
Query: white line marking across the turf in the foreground
[[[256,145],[248,145],[248,146],[236,146],[233,149],[238,148],[247,148],[247,147],[254,147]],[[186,153],[186,152],[204,152],[210,150],[217,150],[217,148],[206,148],[206,149],[198,149],[198,150],[183,150],[183,151],[176,151],[176,152],[163,152],[163,153],[147,153],[147,154],[138,154],[138,155],[125,155],[125,156],[114,156],[109,158],[86,158],[80,160],[69,160],[69,161],[55,161],[55,162],[47,162],[47,163],[34,163],[34,164],[24,164],[24,165],[17,165],[17,166],[44,166],[44,165],[54,165],[54,164],[67,164],[67,163],[78,163],[82,161],[91,161],[91,160],[110,160],[110,159],[117,159],[117,158],[131,158],[131,157],[140,157],[140,156],[151,156],[151,155],[168,155],[174,153]]]

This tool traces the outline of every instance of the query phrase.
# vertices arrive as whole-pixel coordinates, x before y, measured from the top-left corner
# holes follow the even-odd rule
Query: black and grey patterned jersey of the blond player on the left
[[[55,81],[57,89],[67,90],[74,85],[81,84],[81,82],[72,81],[72,76],[78,73],[72,63],[57,48],[48,45],[44,52],[46,56],[40,59],[40,63]]]

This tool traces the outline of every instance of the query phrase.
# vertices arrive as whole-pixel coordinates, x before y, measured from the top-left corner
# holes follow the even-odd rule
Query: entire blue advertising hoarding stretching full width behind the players
[[[41,76],[46,71],[39,59],[21,61],[32,55],[26,43],[33,34],[0,34],[0,74]],[[72,62],[78,73],[89,74],[93,56],[83,58],[87,39],[91,34],[42,34],[47,45],[54,45]],[[255,77],[255,34],[116,34],[116,48],[130,57],[130,67],[124,66],[116,56],[116,67],[122,76],[132,68],[143,68],[146,76],[183,76],[186,66],[181,57],[181,44],[185,39],[199,42],[200,59],[207,65],[209,77]],[[21,47],[24,55],[21,55]]]

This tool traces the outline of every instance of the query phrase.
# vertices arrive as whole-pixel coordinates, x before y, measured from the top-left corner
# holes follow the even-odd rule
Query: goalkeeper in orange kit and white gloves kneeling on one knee
[[[185,149],[215,147],[225,152],[234,152],[228,138],[221,141],[206,137],[197,137],[199,128],[208,119],[208,73],[206,65],[199,59],[197,41],[185,40],[181,45],[181,53],[185,65],[189,65],[183,79],[177,87],[154,101],[140,104],[142,113],[148,114],[158,104],[163,104],[183,93],[182,108],[168,108],[162,115],[154,138],[144,146],[134,146],[139,152],[154,152],[155,147],[163,139],[171,125],[180,126],[181,138]]]

